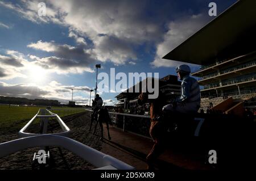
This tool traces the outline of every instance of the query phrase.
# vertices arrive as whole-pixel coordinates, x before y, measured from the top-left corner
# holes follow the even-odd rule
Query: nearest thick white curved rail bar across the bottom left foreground
[[[60,146],[69,151],[72,151],[99,169],[135,169],[133,166],[119,161],[110,155],[101,153],[100,151],[90,148],[89,146],[81,144],[81,142],[72,140],[71,138],[56,135],[31,136],[2,143],[0,144],[0,158],[11,153],[15,153],[19,150],[34,148],[38,146]]]

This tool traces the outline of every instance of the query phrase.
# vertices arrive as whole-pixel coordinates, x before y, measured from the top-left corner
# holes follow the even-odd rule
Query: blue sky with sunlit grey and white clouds
[[[0,0],[0,95],[68,103],[73,89],[76,104],[86,105],[96,64],[98,73],[175,75],[183,63],[162,57],[216,18],[210,2],[219,15],[236,1]],[[120,92],[99,88],[106,105],[117,103]]]

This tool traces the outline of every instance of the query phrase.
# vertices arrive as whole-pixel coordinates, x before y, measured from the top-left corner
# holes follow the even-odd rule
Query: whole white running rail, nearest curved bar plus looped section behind
[[[39,113],[42,115],[39,115]],[[45,113],[49,113],[50,115],[44,115]],[[41,119],[41,124],[43,124],[42,133],[26,133],[26,129],[31,125],[33,121],[35,121],[36,117],[39,117]],[[63,129],[63,132],[46,134],[49,117],[56,117],[61,128]],[[0,158],[27,148],[60,146],[69,151],[72,151],[79,157],[85,159],[85,161],[98,167],[98,169],[135,169],[133,166],[127,165],[127,163],[119,161],[110,155],[101,153],[100,151],[81,144],[81,142],[72,140],[71,138],[67,138],[66,136],[68,136],[69,132],[70,129],[67,127],[67,125],[65,125],[63,120],[61,120],[57,114],[49,110],[39,110],[38,113],[36,113],[36,115],[30,121],[28,121],[28,123],[22,129],[20,129],[19,137],[22,138],[0,144]]]

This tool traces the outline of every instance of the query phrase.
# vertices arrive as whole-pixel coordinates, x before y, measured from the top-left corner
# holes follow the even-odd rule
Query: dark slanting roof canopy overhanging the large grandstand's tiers
[[[163,58],[209,65],[256,50],[256,1],[236,2]]]

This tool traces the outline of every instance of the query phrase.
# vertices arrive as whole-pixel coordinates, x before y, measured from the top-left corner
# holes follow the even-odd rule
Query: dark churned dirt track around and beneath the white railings
[[[77,114],[79,115],[79,114]],[[77,116],[65,116],[63,121],[71,129],[71,138],[81,142],[82,144],[88,145],[94,149],[101,150],[102,141],[100,137],[94,136],[89,133],[90,121],[85,121],[85,115],[80,114]],[[24,120],[27,122],[27,120]],[[53,123],[49,126],[55,127],[57,124]],[[32,125],[30,132],[38,132],[39,125]],[[55,128],[56,129],[56,128]],[[57,127],[57,129],[59,129]],[[18,138],[19,129],[8,129],[0,131],[0,142],[11,141]],[[97,129],[96,134],[100,134],[100,130]],[[30,148],[22,151],[17,151],[14,154],[10,154],[6,157],[0,158],[0,169],[32,169],[32,159],[34,153],[39,148]],[[52,158],[51,169],[94,169],[90,163],[84,161],[80,157],[77,157],[71,151],[63,148],[50,147],[50,154]],[[34,167],[37,168],[36,166]]]

